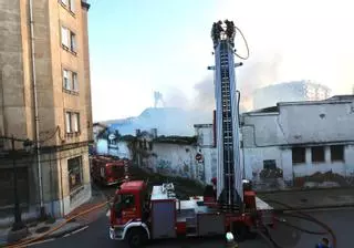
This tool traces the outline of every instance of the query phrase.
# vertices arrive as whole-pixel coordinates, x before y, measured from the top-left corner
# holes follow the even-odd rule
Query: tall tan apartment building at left
[[[0,1],[1,209],[13,206],[13,159],[22,216],[63,216],[91,197],[88,9],[83,0]]]

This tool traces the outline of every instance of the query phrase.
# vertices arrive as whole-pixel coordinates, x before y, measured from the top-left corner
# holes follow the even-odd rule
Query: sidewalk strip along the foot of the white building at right
[[[259,198],[275,209],[287,209],[287,207],[272,203],[279,202],[299,210],[323,209],[339,207],[354,207],[354,188],[323,188],[306,190],[287,190],[272,193],[258,193]]]

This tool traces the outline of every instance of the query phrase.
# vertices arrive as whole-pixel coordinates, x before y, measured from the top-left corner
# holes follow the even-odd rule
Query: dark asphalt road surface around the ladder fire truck
[[[319,220],[329,225],[335,232],[337,239],[337,248],[350,247],[352,242],[352,224],[354,223],[354,209],[337,209],[337,210],[326,210],[326,211],[316,211],[316,213],[306,213],[311,216],[317,218]],[[309,229],[311,231],[324,231],[320,227],[311,224],[306,220],[288,220],[298,227]],[[100,217],[96,221],[92,223],[88,228],[83,231],[80,231],[75,235],[63,237],[60,239],[55,239],[52,241],[38,244],[32,247],[35,248],[62,248],[62,247],[122,247],[125,248],[125,244],[110,240],[108,238],[108,219],[106,216]],[[300,231],[294,231],[293,229],[285,230],[284,227],[278,227],[279,231],[277,231],[273,237],[279,244],[290,245],[291,240],[298,240],[294,248],[303,248],[303,247],[314,247],[317,240],[320,240],[323,236],[308,235],[301,234]],[[293,237],[295,236],[296,237]],[[331,236],[326,236],[330,239]],[[185,240],[162,240],[154,241],[148,247],[150,248],[218,248],[225,247],[223,240],[220,238],[200,238],[200,239],[185,239]],[[267,244],[258,238],[256,240],[249,240],[240,244],[241,248],[266,248]],[[285,247],[285,246],[284,246]],[[287,246],[291,247],[291,246]]]

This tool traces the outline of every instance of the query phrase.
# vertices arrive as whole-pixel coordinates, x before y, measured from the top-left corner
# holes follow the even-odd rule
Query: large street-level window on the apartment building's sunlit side
[[[67,159],[70,192],[83,184],[82,156]]]

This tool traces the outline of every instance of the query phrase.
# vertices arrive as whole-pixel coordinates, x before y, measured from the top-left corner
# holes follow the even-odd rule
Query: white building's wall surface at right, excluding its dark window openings
[[[321,102],[319,102],[321,103]],[[241,126],[248,179],[259,180],[264,159],[275,159],[283,179],[333,172],[343,177],[354,173],[354,107],[352,102],[280,104],[277,113],[249,113]],[[332,162],[330,145],[342,144],[344,162]],[[292,147],[306,147],[303,164],[292,163]],[[325,162],[312,163],[311,147],[324,146]]]

